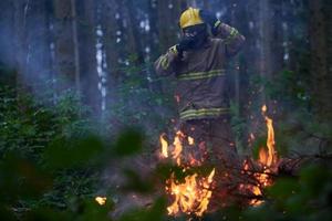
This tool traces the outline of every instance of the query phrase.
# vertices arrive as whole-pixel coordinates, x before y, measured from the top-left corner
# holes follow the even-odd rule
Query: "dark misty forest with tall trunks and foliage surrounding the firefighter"
[[[329,0],[1,0],[0,217],[103,220],[115,210],[114,219],[163,219],[163,199],[118,212],[117,204],[131,200],[114,179],[136,183],[126,191],[151,192],[154,179],[145,183],[139,176],[156,164],[158,136],[172,133],[177,119],[175,81],[158,77],[153,63],[178,42],[178,18],[188,6],[215,12],[247,39],[228,66],[239,154],[255,155],[264,141],[260,107],[267,104],[278,154],[320,161],[277,182],[267,193],[270,204],[222,214],[328,220]],[[107,207],[93,201],[98,194],[108,197]]]

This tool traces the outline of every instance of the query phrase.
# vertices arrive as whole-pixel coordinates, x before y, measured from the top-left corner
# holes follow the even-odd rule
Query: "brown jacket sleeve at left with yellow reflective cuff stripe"
[[[155,70],[157,74],[164,76],[174,74],[176,71],[176,64],[179,60],[179,53],[174,45],[155,62]]]

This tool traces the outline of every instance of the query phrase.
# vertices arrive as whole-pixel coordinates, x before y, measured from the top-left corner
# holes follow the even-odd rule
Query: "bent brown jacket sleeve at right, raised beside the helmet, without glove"
[[[240,34],[238,30],[221,22],[217,27],[215,38],[224,40],[226,45],[226,54],[228,56],[236,55],[246,41],[246,38]]]

